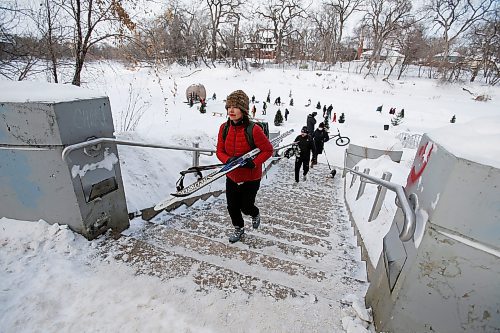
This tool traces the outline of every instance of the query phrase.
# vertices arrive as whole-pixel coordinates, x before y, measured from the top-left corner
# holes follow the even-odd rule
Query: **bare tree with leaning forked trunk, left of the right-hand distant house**
[[[366,26],[371,30],[373,52],[368,68],[371,70],[374,62],[380,61],[380,53],[384,43],[398,29],[409,24],[412,5],[409,0],[369,0],[364,17]]]

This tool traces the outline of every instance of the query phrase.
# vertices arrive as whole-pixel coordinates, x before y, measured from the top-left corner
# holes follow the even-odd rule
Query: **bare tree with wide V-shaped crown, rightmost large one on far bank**
[[[441,33],[444,65],[450,47],[459,36],[485,18],[498,0],[428,0],[425,11]]]

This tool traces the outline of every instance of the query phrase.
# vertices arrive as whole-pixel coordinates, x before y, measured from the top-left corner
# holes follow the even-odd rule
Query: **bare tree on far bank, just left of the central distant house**
[[[210,45],[212,61],[217,59],[217,36],[223,38],[220,26],[224,23],[234,23],[243,0],[205,0],[210,12]]]

